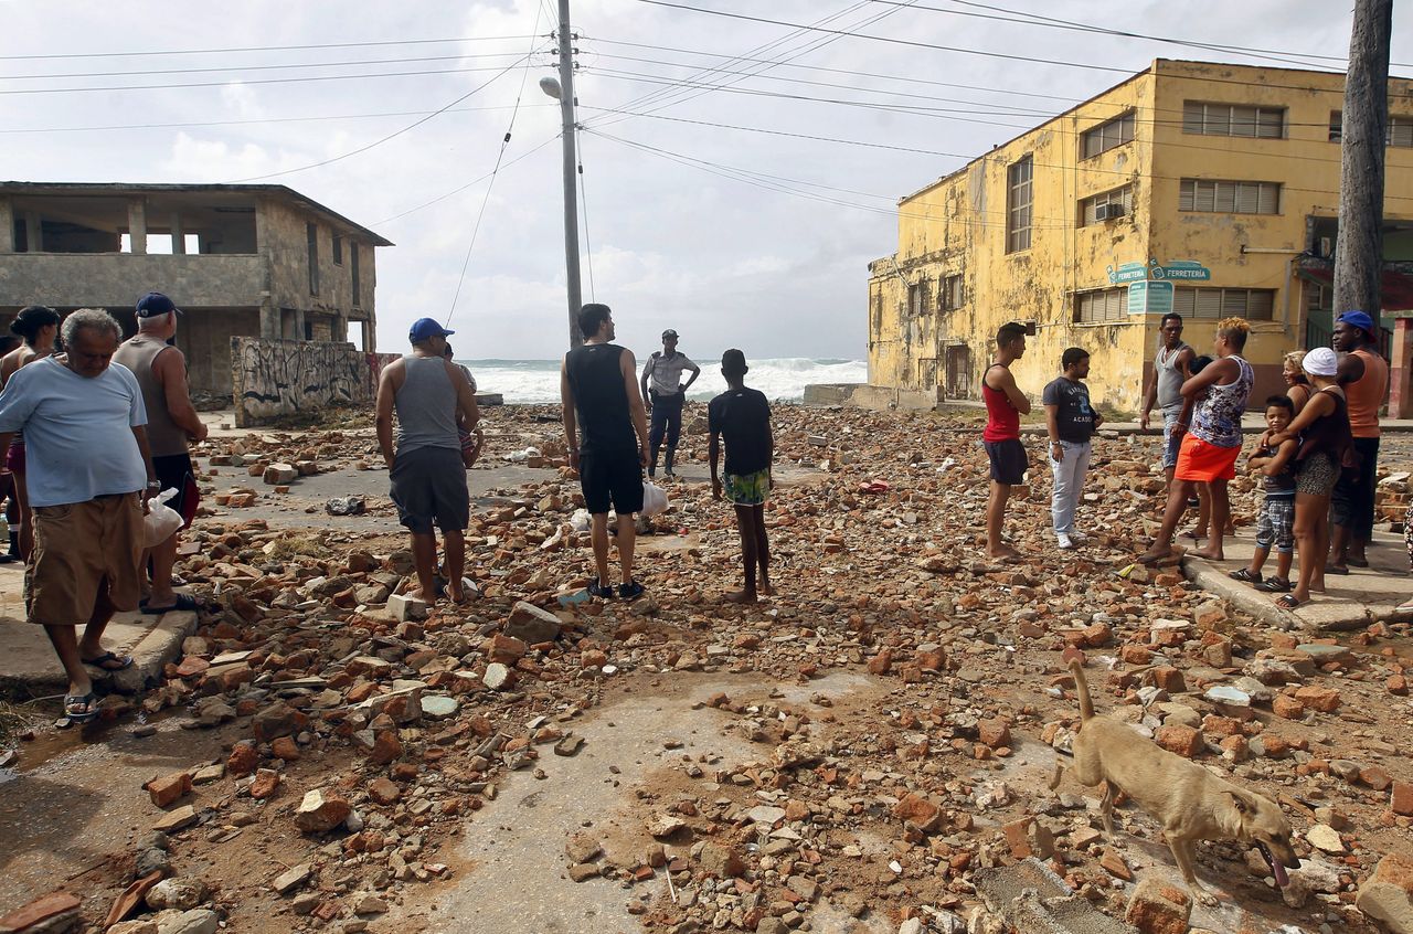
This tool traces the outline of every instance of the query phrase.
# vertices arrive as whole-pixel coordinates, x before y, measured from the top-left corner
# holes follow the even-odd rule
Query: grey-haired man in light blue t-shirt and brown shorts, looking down
[[[143,513],[158,485],[141,389],[124,366],[110,366],[123,336],[117,321],[81,308],[64,319],[62,336],[68,353],[21,367],[0,393],[0,449],[24,431],[34,507],[28,619],[44,626],[69,677],[65,715],[83,722],[97,714],[85,666],[133,664],[100,640],[116,610],[137,609]]]

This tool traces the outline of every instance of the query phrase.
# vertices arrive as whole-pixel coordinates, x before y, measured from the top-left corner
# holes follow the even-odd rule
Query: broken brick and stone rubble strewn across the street
[[[705,458],[695,408],[678,463]],[[1307,930],[1373,931],[1366,913],[1402,910],[1413,873],[1386,853],[1409,856],[1413,828],[1409,657],[1395,649],[1407,627],[1342,642],[1272,632],[1176,569],[1130,567],[1161,499],[1156,439],[1098,445],[1088,544],[1074,552],[1053,547],[1047,471],[1034,469],[1007,520],[1027,560],[1000,565],[981,557],[975,431],[780,407],[767,526],[781,596],[721,602],[739,574],[729,506],[678,482],[640,550],[649,595],[605,603],[582,592],[582,500],[551,415],[487,420],[487,458],[538,473],[480,500],[463,606],[406,598],[398,536],[294,533],[244,509],[198,523],[179,572],[212,606],[140,705],[230,743],[147,783],[153,834],[133,862],[147,887],[124,923],[153,927],[110,930],[213,930],[242,911],[294,930],[396,930],[384,916],[476,870],[455,837],[510,783],[575,756],[578,723],[610,694],[663,680],[690,691],[695,673],[750,675],[697,707],[723,745],[753,753],[670,747],[670,780],[626,790],[626,842],[568,820],[565,839],[545,842],[564,846],[564,879],[602,886],[647,930],[1005,930],[982,879],[1026,861],[1116,924],[1187,930],[1200,909],[1169,885],[1157,825],[1119,808],[1109,844],[1092,793],[1046,787],[1077,726],[1070,658],[1101,712],[1279,801],[1296,827],[1301,869],[1284,890],[1236,844],[1200,848],[1200,875]],[[355,428],[213,447],[215,471],[277,489],[292,479],[281,465],[377,461]],[[1238,502],[1253,512],[1253,497]],[[812,687],[838,671],[872,687]],[[244,873],[202,876],[223,848],[249,855]]]

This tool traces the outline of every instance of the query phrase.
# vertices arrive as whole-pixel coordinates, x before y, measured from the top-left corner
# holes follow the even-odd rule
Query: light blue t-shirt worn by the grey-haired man
[[[146,424],[143,390],[122,363],[88,377],[51,356],[16,370],[0,393],[0,432],[24,430],[32,506],[144,489],[147,466],[133,427]]]

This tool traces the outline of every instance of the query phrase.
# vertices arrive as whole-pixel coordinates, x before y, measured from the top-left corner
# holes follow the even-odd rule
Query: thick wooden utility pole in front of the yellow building
[[[1393,0],[1355,0],[1340,144],[1340,240],[1334,311],[1379,319],[1383,273],[1383,146],[1389,130]]]

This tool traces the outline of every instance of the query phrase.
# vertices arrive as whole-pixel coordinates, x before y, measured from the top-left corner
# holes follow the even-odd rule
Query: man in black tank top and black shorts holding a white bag
[[[617,595],[633,599],[643,585],[633,579],[636,544],[633,513],[643,509],[643,468],[647,466],[647,413],[637,389],[633,352],[613,341],[613,312],[589,304],[579,311],[584,346],[564,356],[560,400],[569,466],[579,472],[584,506],[593,517],[593,596],[613,596],[609,584],[609,504],[617,513]],[[581,437],[582,432],[582,437]]]

